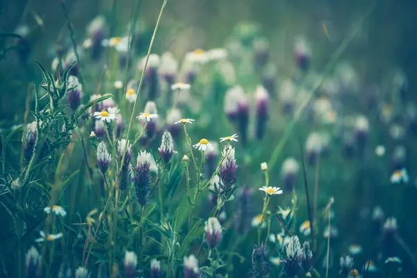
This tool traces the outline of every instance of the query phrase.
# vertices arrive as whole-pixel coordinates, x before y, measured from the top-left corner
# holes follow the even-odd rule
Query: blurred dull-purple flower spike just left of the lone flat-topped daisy
[[[240,235],[245,235],[250,231],[251,219],[254,215],[252,193],[252,189],[242,188],[236,198],[237,207],[234,215],[234,226]]]

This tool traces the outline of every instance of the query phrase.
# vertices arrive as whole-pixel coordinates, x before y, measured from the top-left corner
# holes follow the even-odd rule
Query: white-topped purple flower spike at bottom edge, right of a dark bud
[[[302,247],[297,236],[291,236],[286,245],[286,259],[284,259],[284,272],[290,278],[297,275],[302,267]]]

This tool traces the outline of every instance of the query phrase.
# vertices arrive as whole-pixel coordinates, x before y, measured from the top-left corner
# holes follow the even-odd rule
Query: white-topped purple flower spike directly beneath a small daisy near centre
[[[236,165],[235,149],[227,145],[224,147],[222,157],[224,157],[224,160],[220,170],[221,186],[226,199],[229,199],[236,189],[236,169],[238,165]]]

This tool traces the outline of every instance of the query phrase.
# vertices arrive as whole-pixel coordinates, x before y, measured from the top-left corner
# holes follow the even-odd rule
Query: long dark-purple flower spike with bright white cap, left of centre
[[[138,154],[138,163],[136,165],[135,189],[136,199],[141,206],[145,206],[149,201],[149,170],[152,164],[152,156],[149,152],[140,151]]]

